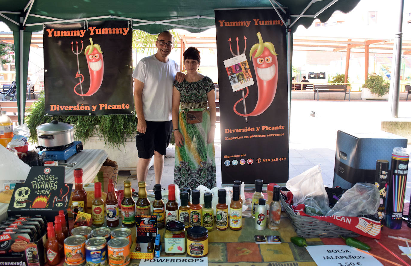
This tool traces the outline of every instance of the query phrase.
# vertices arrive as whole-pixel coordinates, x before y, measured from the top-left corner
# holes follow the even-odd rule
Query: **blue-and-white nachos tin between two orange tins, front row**
[[[104,237],[92,237],[85,241],[85,261],[87,266],[107,264],[107,244]]]

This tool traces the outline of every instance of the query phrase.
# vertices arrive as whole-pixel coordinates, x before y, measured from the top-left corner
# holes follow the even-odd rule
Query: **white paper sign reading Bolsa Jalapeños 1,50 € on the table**
[[[346,245],[319,245],[306,247],[318,266],[382,266],[371,255],[355,250]]]

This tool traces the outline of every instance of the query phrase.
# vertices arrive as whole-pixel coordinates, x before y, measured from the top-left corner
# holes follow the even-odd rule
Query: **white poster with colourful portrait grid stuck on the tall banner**
[[[254,85],[253,77],[245,54],[224,60],[224,66],[233,91]]]

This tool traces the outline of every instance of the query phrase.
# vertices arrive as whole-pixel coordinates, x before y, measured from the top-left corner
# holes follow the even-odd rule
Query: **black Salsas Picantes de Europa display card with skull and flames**
[[[64,167],[33,166],[25,182],[16,184],[9,210],[67,209],[73,184],[64,178]]]

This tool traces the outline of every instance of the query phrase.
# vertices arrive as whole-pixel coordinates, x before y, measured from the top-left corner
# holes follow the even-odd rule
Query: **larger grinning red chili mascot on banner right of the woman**
[[[258,44],[254,44],[250,49],[250,59],[254,65],[256,74],[258,99],[254,110],[251,113],[242,114],[236,110],[236,105],[243,99],[239,99],[234,104],[234,112],[239,116],[258,116],[267,110],[271,105],[277,91],[278,81],[278,54],[275,52],[274,44],[271,42],[263,42],[261,33],[257,33],[259,39]],[[248,95],[248,88],[246,88]]]

